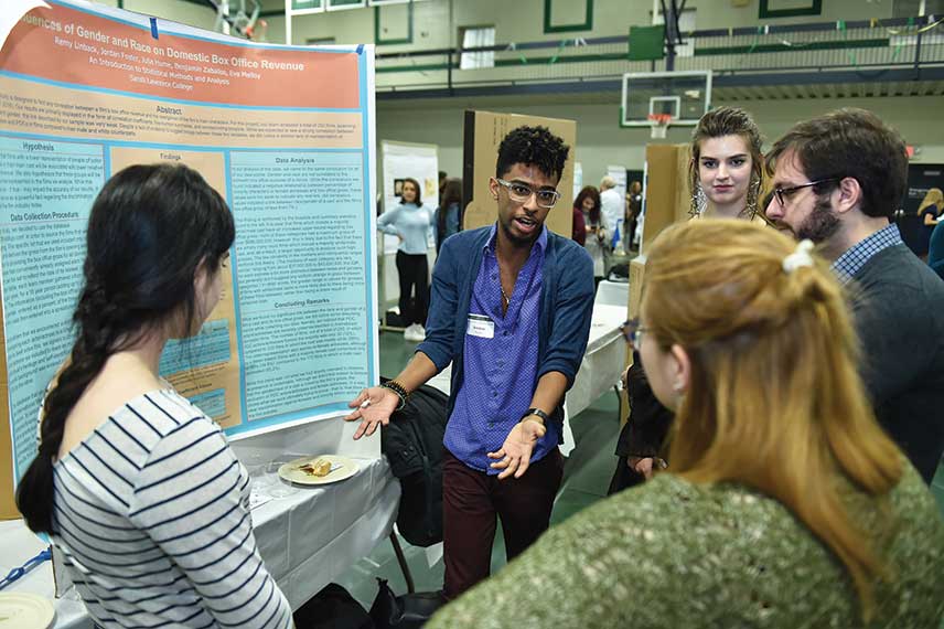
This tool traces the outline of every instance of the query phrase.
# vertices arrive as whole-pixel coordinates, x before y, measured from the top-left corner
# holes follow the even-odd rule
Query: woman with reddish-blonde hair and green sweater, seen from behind
[[[425,627],[938,627],[944,520],[875,419],[811,249],[745,221],[659,234],[636,343],[676,413],[669,470]]]

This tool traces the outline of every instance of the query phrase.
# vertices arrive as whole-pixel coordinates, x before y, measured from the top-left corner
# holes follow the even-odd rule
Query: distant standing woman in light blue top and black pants
[[[377,228],[397,236],[397,275],[400,279],[400,317],[404,339],[419,342],[426,338],[427,311],[429,310],[429,262],[427,235],[433,225],[433,211],[422,204],[419,183],[404,179],[400,204],[380,214]],[[416,299],[411,296],[416,291]]]

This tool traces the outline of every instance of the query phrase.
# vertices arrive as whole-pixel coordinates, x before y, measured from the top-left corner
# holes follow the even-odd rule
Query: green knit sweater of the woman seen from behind
[[[856,523],[882,529],[849,490]],[[891,492],[898,534],[870,627],[936,629],[944,521],[910,466]],[[844,566],[781,503],[740,484],[663,473],[549,530],[427,629],[861,627]]]

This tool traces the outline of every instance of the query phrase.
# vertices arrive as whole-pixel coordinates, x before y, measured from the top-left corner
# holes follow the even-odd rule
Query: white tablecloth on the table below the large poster
[[[328,436],[336,436],[339,444],[335,446],[342,449],[347,446],[346,439],[354,427],[329,419],[236,441],[233,447],[240,458],[260,447],[271,450],[272,458],[290,451],[320,454],[331,451],[325,447]],[[321,447],[310,449],[313,446],[305,443],[305,437],[320,443]],[[289,443],[294,448],[283,449]],[[356,451],[344,452],[360,466],[357,473],[347,480],[302,487],[287,498],[270,500],[253,510],[259,552],[293,609],[389,535],[396,520],[400,484],[390,473],[385,458],[368,454],[378,448],[379,438],[374,437],[353,448],[361,450],[360,457]],[[0,573],[3,575],[44,547],[22,520],[0,522]],[[34,568],[3,591],[53,598],[52,564],[46,562]],[[90,619],[74,590],[55,604],[56,629],[90,629]]]

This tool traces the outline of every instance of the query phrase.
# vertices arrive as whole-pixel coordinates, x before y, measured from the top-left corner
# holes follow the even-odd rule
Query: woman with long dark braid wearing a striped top
[[[185,166],[129,167],[92,207],[75,344],[17,505],[96,626],[292,626],[256,548],[246,469],[159,375],[168,340],[219,301],[233,239],[226,202]]]

